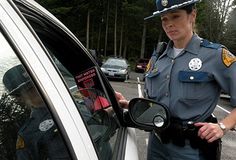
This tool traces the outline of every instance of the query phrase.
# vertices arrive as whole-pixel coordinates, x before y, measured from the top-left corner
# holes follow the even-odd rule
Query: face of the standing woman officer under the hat
[[[196,11],[187,14],[185,10],[178,9],[161,16],[162,27],[167,36],[175,42],[192,37]]]

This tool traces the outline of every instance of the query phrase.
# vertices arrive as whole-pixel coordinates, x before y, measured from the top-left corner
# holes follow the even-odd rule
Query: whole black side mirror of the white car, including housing
[[[170,121],[169,110],[164,104],[145,98],[129,102],[129,115],[136,128],[146,131],[165,129]]]

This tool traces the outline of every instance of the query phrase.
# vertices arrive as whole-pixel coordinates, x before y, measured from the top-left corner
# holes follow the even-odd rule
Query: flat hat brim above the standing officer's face
[[[174,5],[174,6],[165,8],[165,9],[163,9],[162,11],[153,12],[153,14],[152,14],[151,16],[145,17],[144,20],[148,20],[148,19],[151,19],[151,18],[153,18],[153,17],[156,17],[156,16],[160,16],[160,15],[162,15],[162,14],[165,14],[165,13],[167,13],[167,12],[171,12],[171,11],[174,11],[174,10],[177,10],[177,9],[180,9],[180,8],[183,8],[183,7],[185,7],[185,6],[191,5],[191,4],[196,3],[196,2],[198,2],[198,1],[199,1],[199,0],[192,0],[192,1],[184,2],[184,3],[179,4],[179,5]]]

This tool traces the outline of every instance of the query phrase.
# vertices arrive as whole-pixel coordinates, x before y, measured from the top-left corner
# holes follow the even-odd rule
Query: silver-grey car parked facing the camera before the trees
[[[122,81],[129,79],[130,66],[124,58],[108,58],[101,66],[101,70],[110,79]]]

